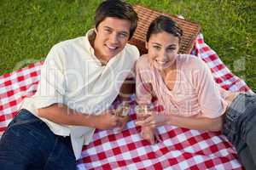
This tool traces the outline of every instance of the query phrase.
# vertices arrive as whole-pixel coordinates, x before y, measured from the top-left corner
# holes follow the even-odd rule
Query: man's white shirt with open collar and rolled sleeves
[[[96,58],[88,37],[78,37],[57,43],[50,49],[41,69],[38,90],[24,99],[21,109],[38,116],[38,109],[55,103],[67,105],[84,114],[99,114],[108,109],[119,94],[125,78],[131,74],[139,57],[137,48],[126,44],[122,52],[102,65]],[[83,144],[90,143],[94,128],[61,125],[39,117],[50,130],[61,136],[71,136],[73,151],[79,159]]]

